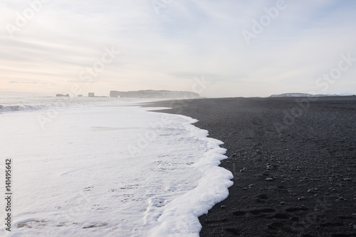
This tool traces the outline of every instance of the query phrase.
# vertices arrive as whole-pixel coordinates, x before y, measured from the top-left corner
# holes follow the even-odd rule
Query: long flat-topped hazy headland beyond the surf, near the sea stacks
[[[173,92],[165,90],[141,90],[133,92],[117,92],[111,91],[110,97],[121,98],[182,98],[182,99],[196,99],[200,98],[199,94],[194,92]]]

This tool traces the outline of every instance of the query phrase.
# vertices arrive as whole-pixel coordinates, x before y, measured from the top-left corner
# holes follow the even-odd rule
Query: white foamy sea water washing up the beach
[[[0,236],[199,236],[197,217],[229,194],[226,150],[147,101],[0,98],[1,176],[13,164]]]

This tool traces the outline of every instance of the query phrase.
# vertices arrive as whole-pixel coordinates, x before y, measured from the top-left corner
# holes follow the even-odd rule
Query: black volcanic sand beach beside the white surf
[[[200,236],[356,236],[356,97],[299,100],[155,103],[225,143],[234,185]]]

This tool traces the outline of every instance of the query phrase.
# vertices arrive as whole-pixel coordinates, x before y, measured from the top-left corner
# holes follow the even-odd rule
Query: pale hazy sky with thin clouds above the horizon
[[[356,1],[2,0],[0,96],[356,94]]]

